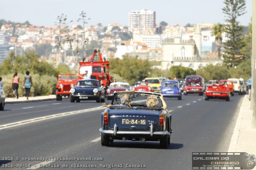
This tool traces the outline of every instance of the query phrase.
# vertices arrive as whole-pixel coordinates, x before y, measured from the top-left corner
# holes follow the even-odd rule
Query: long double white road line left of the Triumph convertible
[[[101,110],[101,109],[103,110],[104,108],[102,106],[100,106],[100,107],[94,107],[94,108],[89,108],[89,109],[84,109],[84,110],[76,110],[76,111],[72,111],[72,112],[65,112],[65,113],[60,113],[60,114],[55,114],[55,115],[49,115],[49,116],[43,116],[43,117],[37,117],[37,118],[33,118],[33,119],[23,120],[23,121],[19,121],[19,122],[8,123],[8,124],[0,125],[0,130],[15,127],[15,126],[20,126],[20,125],[24,125],[24,124],[28,124],[28,123],[39,122],[39,121],[43,121],[43,120],[47,120],[47,119],[53,119],[56,117],[75,115],[75,114],[79,114],[79,113],[86,113],[86,112],[91,112],[91,111]]]

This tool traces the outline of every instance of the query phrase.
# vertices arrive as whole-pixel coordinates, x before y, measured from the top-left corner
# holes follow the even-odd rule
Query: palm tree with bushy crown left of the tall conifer
[[[218,57],[220,59],[220,48],[222,45],[222,32],[224,32],[224,25],[218,23],[212,27],[212,36],[215,36],[215,43],[217,45]]]

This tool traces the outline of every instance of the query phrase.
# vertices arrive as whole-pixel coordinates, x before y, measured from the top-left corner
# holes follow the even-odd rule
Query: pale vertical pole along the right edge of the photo
[[[256,1],[252,0],[252,91],[251,91],[251,109],[252,110],[252,128],[256,128]]]

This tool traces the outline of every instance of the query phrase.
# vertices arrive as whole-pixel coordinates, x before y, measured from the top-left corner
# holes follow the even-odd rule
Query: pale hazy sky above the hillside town
[[[168,25],[199,23],[225,23],[222,12],[224,0],[0,0],[0,19],[26,22],[36,26],[55,26],[57,17],[67,15],[67,21],[82,25],[76,20],[81,11],[86,13],[88,24],[102,26],[118,23],[128,26],[128,13],[132,10],[156,12],[156,24]],[[245,0],[246,14],[238,17],[243,26],[248,26],[252,17],[252,0]]]

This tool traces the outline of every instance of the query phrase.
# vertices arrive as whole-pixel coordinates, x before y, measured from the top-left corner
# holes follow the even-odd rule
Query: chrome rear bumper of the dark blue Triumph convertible
[[[117,131],[117,125],[114,125],[114,130],[104,130],[102,128],[99,129],[100,133],[105,133],[105,134],[112,134],[116,136],[116,134],[120,135],[128,135],[128,134],[134,134],[134,135],[150,135],[151,137],[153,135],[169,135],[169,132],[166,131],[157,131],[153,132],[153,125],[150,126],[149,131]]]

